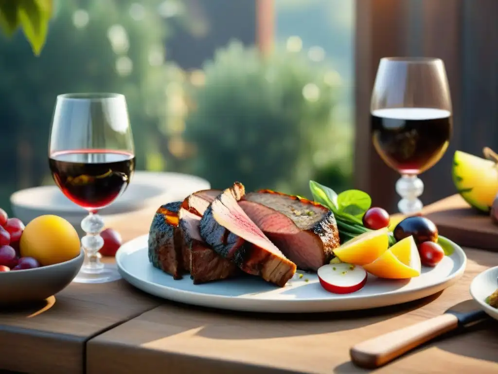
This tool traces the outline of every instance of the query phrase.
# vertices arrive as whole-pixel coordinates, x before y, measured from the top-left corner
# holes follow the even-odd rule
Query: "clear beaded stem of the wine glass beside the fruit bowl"
[[[99,214],[90,213],[81,221],[81,228],[86,232],[81,238],[81,244],[87,255],[81,270],[87,273],[99,273],[104,268],[99,256],[99,250],[104,245],[104,239],[100,236],[104,220]]]

